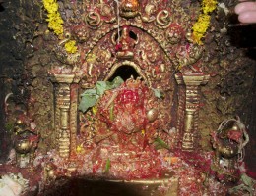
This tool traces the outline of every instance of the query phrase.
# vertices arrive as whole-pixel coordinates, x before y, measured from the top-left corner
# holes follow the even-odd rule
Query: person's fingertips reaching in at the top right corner
[[[240,2],[234,12],[238,15],[238,20],[244,24],[256,23],[256,2]]]

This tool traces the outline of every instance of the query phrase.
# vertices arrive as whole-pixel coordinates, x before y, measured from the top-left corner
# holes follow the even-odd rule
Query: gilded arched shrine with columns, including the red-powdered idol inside
[[[74,170],[90,163],[86,173],[104,174],[111,161],[110,170],[122,168],[111,177],[159,177],[158,147],[199,147],[199,90],[209,75],[200,68],[203,48],[190,42],[187,14],[176,1],[73,6],[54,49],[59,65],[49,71],[59,156],[73,160]],[[68,53],[70,40],[77,48]]]

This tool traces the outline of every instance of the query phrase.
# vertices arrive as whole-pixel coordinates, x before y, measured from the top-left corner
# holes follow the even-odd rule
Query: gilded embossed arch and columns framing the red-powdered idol
[[[172,141],[174,137],[176,146],[181,141],[184,150],[193,150],[195,132],[198,132],[199,85],[208,79],[197,69],[203,48],[190,42],[191,22],[179,2],[167,5],[148,0],[76,2],[77,13],[65,23],[65,31],[70,36],[54,48],[60,65],[72,67],[58,68],[54,75],[54,82],[58,84],[55,91],[55,129],[62,157],[76,154],[78,129],[85,133],[86,145],[109,137],[118,140],[109,132],[98,134],[102,123],[98,119],[92,122],[83,119],[94,114],[93,109],[81,114],[77,105],[79,94],[84,89],[95,88],[97,81],[109,81],[119,71],[125,74],[122,69],[127,67],[149,88],[160,91],[157,108],[152,100],[147,101],[148,123],[161,124],[156,128],[159,135],[176,127]],[[76,40],[78,52],[66,54],[61,46],[71,38]],[[177,72],[182,75],[176,77],[178,86],[174,78]],[[114,100],[114,95],[109,99]],[[109,102],[107,108],[111,104]],[[118,121],[127,130],[135,129],[132,123]],[[144,130],[136,131],[143,134]],[[173,146],[171,139],[166,137],[164,140]]]

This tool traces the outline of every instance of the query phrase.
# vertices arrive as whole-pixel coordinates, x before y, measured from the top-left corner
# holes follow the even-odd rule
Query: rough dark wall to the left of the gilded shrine
[[[45,92],[47,90],[43,86],[49,85],[46,69],[42,71],[36,66],[45,66],[47,63],[40,45],[41,36],[38,34],[41,26],[47,28],[42,13],[41,2],[36,0],[4,1],[0,7],[1,160],[6,159],[7,152],[12,147],[10,138],[15,118],[25,111],[30,112],[27,109],[31,103],[31,92],[44,97],[36,89]],[[9,93],[12,95],[7,102],[7,111],[4,111],[4,99]],[[46,111],[45,108],[43,110]],[[48,124],[47,122],[48,120],[41,121],[42,124]]]

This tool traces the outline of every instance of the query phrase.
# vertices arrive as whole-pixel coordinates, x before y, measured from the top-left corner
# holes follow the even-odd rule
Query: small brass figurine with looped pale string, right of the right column
[[[244,147],[249,136],[240,119],[230,119],[220,124],[212,133],[215,157],[212,169],[221,181],[236,181],[239,178],[238,165],[243,160]]]

